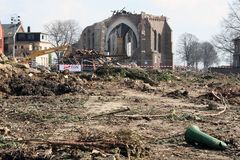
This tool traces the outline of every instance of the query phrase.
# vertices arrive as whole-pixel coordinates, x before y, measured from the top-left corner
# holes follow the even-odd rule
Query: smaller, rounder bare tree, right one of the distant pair
[[[204,69],[207,69],[214,63],[218,63],[219,59],[217,52],[210,42],[203,42],[200,44],[200,53]]]

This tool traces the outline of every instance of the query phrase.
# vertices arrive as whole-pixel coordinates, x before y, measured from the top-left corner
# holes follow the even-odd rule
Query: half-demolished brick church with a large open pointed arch
[[[167,18],[144,12],[114,11],[110,18],[83,30],[78,48],[127,57],[125,62],[135,62],[142,67],[173,66],[171,28]]]

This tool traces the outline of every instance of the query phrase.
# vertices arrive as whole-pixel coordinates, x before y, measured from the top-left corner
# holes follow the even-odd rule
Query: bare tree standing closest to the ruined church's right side
[[[194,65],[197,67],[200,61],[198,46],[199,42],[196,36],[190,33],[184,33],[180,36],[177,53],[187,63],[188,67],[194,67]]]

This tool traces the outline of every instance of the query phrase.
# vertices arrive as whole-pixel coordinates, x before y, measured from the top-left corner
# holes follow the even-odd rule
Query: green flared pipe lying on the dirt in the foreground
[[[188,144],[198,144],[202,147],[208,147],[216,150],[227,149],[227,144],[204,132],[198,126],[191,125],[185,132],[185,140]]]

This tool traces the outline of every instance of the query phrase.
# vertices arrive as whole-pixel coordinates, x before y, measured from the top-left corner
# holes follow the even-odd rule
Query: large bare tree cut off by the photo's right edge
[[[213,37],[216,49],[227,57],[234,53],[233,39],[240,36],[240,0],[235,0],[229,6],[230,13],[223,20],[222,31]]]

